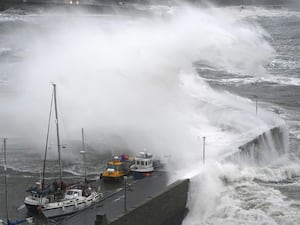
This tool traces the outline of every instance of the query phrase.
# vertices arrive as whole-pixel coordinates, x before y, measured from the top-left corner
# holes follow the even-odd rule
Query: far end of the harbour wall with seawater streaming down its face
[[[276,160],[288,151],[288,131],[285,127],[273,127],[238,148],[225,161],[247,165],[264,165]]]

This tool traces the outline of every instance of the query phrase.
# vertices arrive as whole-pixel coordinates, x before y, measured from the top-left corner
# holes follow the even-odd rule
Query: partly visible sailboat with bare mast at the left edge
[[[17,225],[24,222],[32,223],[32,218],[25,218],[21,220],[12,221],[8,219],[8,193],[7,193],[7,163],[6,163],[6,138],[3,139],[3,149],[4,149],[4,188],[5,188],[5,210],[6,210],[6,221],[0,219],[0,225]]]

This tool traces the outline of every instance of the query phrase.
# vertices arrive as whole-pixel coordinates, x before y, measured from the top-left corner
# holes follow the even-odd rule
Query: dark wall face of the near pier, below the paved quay
[[[178,180],[112,221],[97,215],[95,225],[180,225],[187,213],[188,190],[189,180]]]

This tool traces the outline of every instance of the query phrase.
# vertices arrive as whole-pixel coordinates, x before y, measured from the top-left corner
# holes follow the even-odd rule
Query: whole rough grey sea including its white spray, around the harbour
[[[136,10],[0,12],[0,137],[7,138],[10,217],[26,214],[17,208],[40,177],[54,82],[65,176],[83,174],[84,127],[91,177],[110,153],[150,151],[170,164],[170,181],[191,178],[185,225],[299,224],[299,8],[122,7]],[[257,165],[223,161],[276,126],[288,137],[284,154],[270,153]],[[50,133],[52,179],[54,126]],[[1,175],[5,218],[3,169]]]

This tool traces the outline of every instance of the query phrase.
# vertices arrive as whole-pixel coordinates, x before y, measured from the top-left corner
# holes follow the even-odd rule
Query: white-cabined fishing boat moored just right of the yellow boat
[[[130,167],[134,173],[151,173],[153,167],[153,155],[149,152],[140,152],[135,156],[134,164]]]

